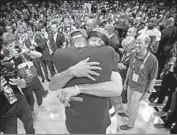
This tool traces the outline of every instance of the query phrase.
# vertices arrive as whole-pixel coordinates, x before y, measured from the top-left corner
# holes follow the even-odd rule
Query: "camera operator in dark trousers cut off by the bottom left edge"
[[[30,106],[19,88],[25,87],[23,79],[17,77],[14,63],[0,55],[0,132],[17,134],[17,118],[25,128],[26,134],[35,134]]]

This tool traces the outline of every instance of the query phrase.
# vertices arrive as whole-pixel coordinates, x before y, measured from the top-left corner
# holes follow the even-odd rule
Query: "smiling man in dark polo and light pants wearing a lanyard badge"
[[[148,97],[155,84],[158,61],[147,50],[150,41],[148,36],[138,36],[136,39],[137,56],[130,60],[124,81],[124,89],[128,89],[127,111],[126,113],[119,113],[120,116],[128,117],[128,124],[120,127],[122,130],[134,127],[141,100]]]

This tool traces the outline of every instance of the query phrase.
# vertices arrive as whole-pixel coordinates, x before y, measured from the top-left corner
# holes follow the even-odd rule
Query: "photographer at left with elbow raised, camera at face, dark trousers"
[[[22,89],[30,107],[31,111],[34,111],[34,96],[36,95],[38,106],[41,109],[43,97],[46,96],[48,91],[45,91],[33,65],[31,59],[41,57],[42,54],[36,51],[27,49],[17,41],[15,41],[14,35],[11,33],[5,33],[3,37],[4,52],[7,52],[8,57],[14,57],[13,61],[15,69],[18,71],[20,78],[23,78],[26,82],[26,87]]]

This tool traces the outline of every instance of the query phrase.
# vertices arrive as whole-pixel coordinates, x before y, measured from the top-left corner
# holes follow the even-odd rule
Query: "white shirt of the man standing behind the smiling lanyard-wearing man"
[[[140,34],[140,35],[148,35],[148,36],[155,36],[156,37],[156,41],[160,41],[160,39],[161,39],[161,32],[157,28],[149,30],[147,28],[147,26],[146,26],[144,29],[140,30],[138,32],[138,34]]]

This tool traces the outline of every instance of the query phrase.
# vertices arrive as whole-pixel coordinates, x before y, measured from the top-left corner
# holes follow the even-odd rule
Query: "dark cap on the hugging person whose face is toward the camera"
[[[105,42],[106,45],[109,43],[109,33],[103,28],[93,29],[88,33],[88,37],[99,37]]]

